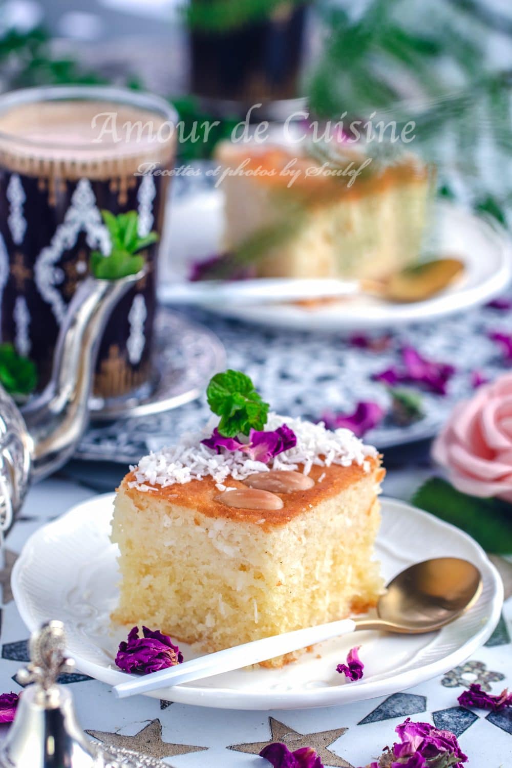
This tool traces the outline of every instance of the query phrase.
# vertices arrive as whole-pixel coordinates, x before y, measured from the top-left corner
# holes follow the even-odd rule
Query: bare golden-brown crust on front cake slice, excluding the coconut
[[[302,472],[302,470],[303,467],[299,467],[299,471]],[[212,477],[191,480],[183,484],[174,483],[165,488],[161,485],[153,485],[141,492],[133,485],[134,472],[129,472],[121,483],[121,490],[134,502],[134,505],[140,505],[144,510],[147,509],[147,503],[150,503],[151,499],[157,499],[160,502],[169,502],[191,511],[198,511],[209,518],[259,523],[265,530],[276,525],[284,525],[296,515],[309,511],[320,502],[338,495],[365,477],[372,477],[374,482],[381,482],[384,475],[385,470],[381,467],[379,455],[368,458],[365,466],[314,465],[309,472],[309,477],[315,481],[315,485],[304,491],[279,494],[283,506],[282,509],[276,510],[234,508],[223,504],[217,498],[220,491]],[[225,483],[229,488],[247,488],[243,482],[233,478],[226,478]]]

